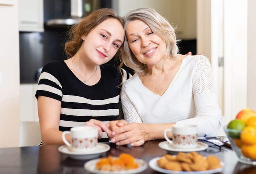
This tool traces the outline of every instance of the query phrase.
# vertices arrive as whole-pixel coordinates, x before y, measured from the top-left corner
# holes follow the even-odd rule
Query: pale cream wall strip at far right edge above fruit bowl
[[[256,1],[248,0],[248,28],[247,28],[247,107],[256,111]]]

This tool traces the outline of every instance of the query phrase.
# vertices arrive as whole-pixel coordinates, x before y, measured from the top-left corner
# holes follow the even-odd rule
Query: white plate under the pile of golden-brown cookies
[[[163,169],[161,167],[158,167],[157,160],[160,159],[160,158],[161,157],[156,157],[156,158],[151,159],[149,161],[148,165],[153,170],[156,170],[156,171],[162,172],[162,173],[167,173],[167,174],[210,174],[210,173],[221,172],[223,170],[223,168],[224,168],[224,163],[220,162],[222,167],[220,167],[218,169],[213,169],[213,170],[204,170],[204,171],[175,171],[175,170],[166,170],[166,169]]]

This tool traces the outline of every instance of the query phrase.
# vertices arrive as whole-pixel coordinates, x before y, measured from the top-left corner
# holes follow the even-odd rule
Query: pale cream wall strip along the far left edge
[[[0,4],[0,148],[18,146],[20,114],[20,62],[18,0]]]

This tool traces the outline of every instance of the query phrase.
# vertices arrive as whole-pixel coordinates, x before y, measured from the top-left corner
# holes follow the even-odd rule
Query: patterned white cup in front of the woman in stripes
[[[70,134],[71,143],[66,140],[65,134]],[[71,151],[87,151],[98,144],[98,130],[91,126],[72,127],[70,131],[62,133],[62,139]]]

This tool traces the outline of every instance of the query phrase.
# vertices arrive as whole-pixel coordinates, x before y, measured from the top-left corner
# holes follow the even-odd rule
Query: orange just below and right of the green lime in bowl
[[[248,145],[256,144],[256,128],[252,126],[244,127],[240,134],[240,139],[243,143]]]

